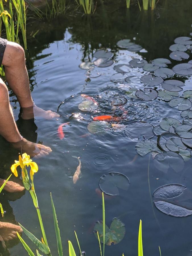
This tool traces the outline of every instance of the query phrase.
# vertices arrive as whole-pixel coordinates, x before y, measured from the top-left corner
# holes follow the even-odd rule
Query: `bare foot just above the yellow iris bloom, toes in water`
[[[23,153],[27,153],[30,157],[40,158],[42,156],[47,156],[50,152],[52,152],[51,148],[37,144],[31,141],[28,141],[22,138],[19,142],[11,142],[11,145],[22,151]]]

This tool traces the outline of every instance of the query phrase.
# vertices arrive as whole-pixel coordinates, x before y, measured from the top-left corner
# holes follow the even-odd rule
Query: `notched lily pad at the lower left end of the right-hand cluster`
[[[140,156],[145,156],[149,152],[162,152],[158,147],[157,147],[157,142],[152,141],[152,140],[144,140],[140,141],[139,143],[136,144],[135,146],[137,153]]]

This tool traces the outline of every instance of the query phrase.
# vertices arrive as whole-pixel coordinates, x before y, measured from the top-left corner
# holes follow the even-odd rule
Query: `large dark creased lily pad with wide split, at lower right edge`
[[[181,202],[182,197],[185,197],[184,193],[186,189],[187,188],[185,186],[180,184],[168,184],[159,187],[153,193],[156,208],[165,214],[175,217],[185,217],[191,215],[192,210],[185,208]],[[176,197],[178,198],[177,201],[175,201]]]

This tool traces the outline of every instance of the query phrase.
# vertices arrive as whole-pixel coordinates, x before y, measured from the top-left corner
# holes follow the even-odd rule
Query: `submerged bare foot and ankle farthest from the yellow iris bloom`
[[[51,118],[57,118],[60,115],[51,110],[45,111],[42,108],[39,108],[38,106],[36,106],[35,104],[32,107],[22,108],[22,114],[21,114],[22,119],[28,120],[38,116],[43,117],[45,119],[51,119]]]

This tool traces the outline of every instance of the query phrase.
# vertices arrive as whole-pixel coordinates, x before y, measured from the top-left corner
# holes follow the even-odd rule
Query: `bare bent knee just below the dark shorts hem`
[[[17,43],[7,42],[5,52],[3,55],[4,66],[18,65],[20,62],[25,61],[24,49]]]

